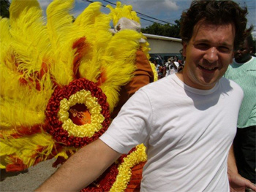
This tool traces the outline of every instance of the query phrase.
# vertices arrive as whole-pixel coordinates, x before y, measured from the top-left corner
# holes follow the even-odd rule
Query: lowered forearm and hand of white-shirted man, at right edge
[[[256,191],[256,186],[253,183],[238,174],[233,145],[230,147],[227,159],[227,174],[230,182],[230,192],[241,192],[245,191],[246,188],[251,188],[253,191]]]

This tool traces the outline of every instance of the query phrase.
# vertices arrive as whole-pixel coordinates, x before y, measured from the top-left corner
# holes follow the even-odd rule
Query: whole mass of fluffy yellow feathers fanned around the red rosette
[[[138,48],[148,56],[148,43],[139,43],[145,38],[143,34],[122,30],[113,35],[109,31],[111,20],[117,23],[121,17],[139,23],[131,6],[118,2],[115,9],[109,7],[107,15],[95,2],[73,22],[69,14],[73,3],[54,0],[48,6],[46,24],[36,0],[12,0],[10,20],[0,19],[1,168],[13,164],[13,157],[29,167],[36,158],[45,161],[52,155],[56,142],[43,130],[20,138],[10,135],[17,134],[18,128],[31,130],[35,125],[45,125],[45,109],[56,88],[54,83],[61,87],[77,78],[73,72],[77,56],[80,77],[98,83],[107,96],[110,112],[118,102],[120,86],[132,78]],[[79,39],[84,39],[82,50],[73,47]],[[78,148],[63,146],[56,158],[68,158],[67,152],[75,150]]]

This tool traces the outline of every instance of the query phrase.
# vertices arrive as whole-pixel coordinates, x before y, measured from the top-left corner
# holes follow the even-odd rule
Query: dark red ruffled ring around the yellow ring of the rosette
[[[91,95],[98,99],[97,101],[102,107],[101,113],[105,120],[102,122],[102,129],[97,131],[93,137],[69,137],[68,132],[62,128],[62,122],[58,118],[60,101],[64,98],[69,99],[72,94],[80,90],[91,91]],[[110,124],[110,112],[107,97],[94,82],[83,78],[73,80],[69,85],[64,86],[63,88],[56,88],[48,101],[45,115],[48,119],[45,131],[51,134],[56,142],[73,147],[83,147],[98,139],[108,129]]]

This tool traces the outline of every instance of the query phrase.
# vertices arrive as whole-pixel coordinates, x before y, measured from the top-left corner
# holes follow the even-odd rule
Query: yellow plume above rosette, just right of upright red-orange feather
[[[74,23],[78,34],[86,37],[86,43],[89,45],[89,50],[86,55],[83,55],[80,63],[79,72],[82,77],[93,82],[97,82],[102,65],[102,54],[112,38],[112,34],[108,31],[110,16],[102,14],[100,7],[99,2],[90,4]]]

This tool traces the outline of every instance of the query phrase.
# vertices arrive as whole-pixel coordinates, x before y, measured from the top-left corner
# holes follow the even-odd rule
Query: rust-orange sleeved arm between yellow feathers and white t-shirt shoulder
[[[116,118],[121,107],[136,91],[138,91],[139,88],[154,81],[151,65],[149,64],[146,54],[143,53],[142,50],[137,50],[136,52],[135,65],[137,69],[134,72],[134,77],[127,83],[127,85],[121,87],[119,101],[111,113],[111,118]]]

